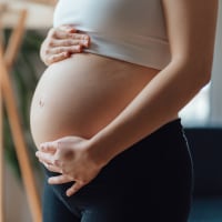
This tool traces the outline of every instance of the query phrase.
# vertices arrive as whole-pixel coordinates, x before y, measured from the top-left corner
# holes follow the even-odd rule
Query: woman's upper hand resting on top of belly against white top
[[[40,49],[40,58],[46,65],[64,60],[73,53],[89,48],[90,37],[78,33],[73,26],[61,26],[49,30]]]

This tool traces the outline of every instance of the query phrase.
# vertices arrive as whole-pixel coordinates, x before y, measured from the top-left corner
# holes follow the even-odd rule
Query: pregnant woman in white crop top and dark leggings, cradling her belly
[[[60,0],[31,104],[44,222],[185,222],[178,112],[211,78],[216,0]]]

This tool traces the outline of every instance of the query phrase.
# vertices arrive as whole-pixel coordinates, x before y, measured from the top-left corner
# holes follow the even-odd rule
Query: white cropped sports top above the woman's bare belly
[[[60,0],[61,24],[90,36],[87,52],[159,70],[171,59],[161,0]]]

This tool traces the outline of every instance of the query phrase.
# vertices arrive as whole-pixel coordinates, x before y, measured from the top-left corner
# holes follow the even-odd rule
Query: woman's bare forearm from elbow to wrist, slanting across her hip
[[[92,138],[98,159],[104,163],[172,120],[209,81],[201,70],[173,62]],[[200,73],[200,74],[199,74]]]

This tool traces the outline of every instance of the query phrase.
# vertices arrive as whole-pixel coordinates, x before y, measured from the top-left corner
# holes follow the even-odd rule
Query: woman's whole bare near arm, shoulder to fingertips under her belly
[[[122,99],[124,105],[120,112],[115,112],[117,117],[113,115],[110,122],[92,137],[71,134],[50,140],[51,142],[40,145],[37,152],[39,160],[49,170],[61,172],[61,175],[49,180],[51,184],[75,182],[67,191],[68,195],[74,194],[89,183],[112,158],[174,119],[210,81],[218,1],[163,0],[162,2],[172,52],[169,65],[154,73],[144,69],[140,75],[137,71],[135,80],[143,82],[137,84],[139,91],[135,90],[137,93],[132,93],[125,103]],[[137,65],[132,65],[123,72],[125,80],[134,77],[133,72],[130,75],[128,73],[134,69],[133,67],[137,69]],[[119,80],[115,83],[118,82]],[[100,87],[101,84],[98,84],[98,88]],[[128,84],[123,83],[122,87],[119,94],[120,92],[124,94]],[[65,153],[70,152],[73,158],[68,159]]]

